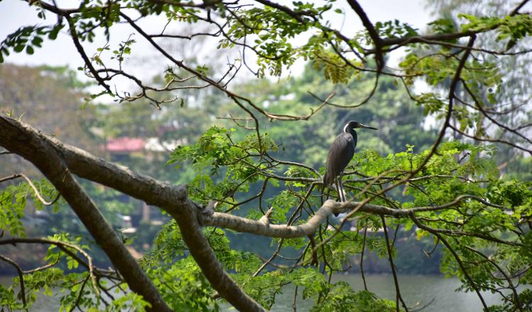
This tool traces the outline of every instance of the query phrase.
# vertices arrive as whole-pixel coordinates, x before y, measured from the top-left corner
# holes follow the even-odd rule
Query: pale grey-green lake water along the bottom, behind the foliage
[[[358,274],[336,275],[333,280],[348,282],[353,289],[362,290],[362,278]],[[395,300],[395,288],[392,275],[371,274],[366,276],[367,287],[382,298]],[[11,284],[11,277],[0,277],[0,284]],[[432,303],[423,311],[482,311],[477,294],[455,292],[460,286],[458,279],[445,279],[441,276],[431,275],[399,275],[401,295],[407,306],[419,305],[419,307]],[[271,311],[292,311],[294,288],[287,286],[283,294],[277,297],[279,303],[272,307]],[[489,305],[499,302],[499,296],[484,293],[484,300]],[[297,300],[297,311],[309,311],[313,306],[311,301],[301,299],[301,290]],[[39,296],[38,302],[29,311],[55,312],[58,311],[59,298],[54,296]],[[234,309],[227,309],[235,311]]]

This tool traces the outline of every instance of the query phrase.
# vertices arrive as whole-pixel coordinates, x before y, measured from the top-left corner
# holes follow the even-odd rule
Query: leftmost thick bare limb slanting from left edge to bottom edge
[[[29,127],[21,127],[13,119],[0,118],[0,129],[0,145],[23,156],[43,172],[109,256],[131,290],[142,295],[151,304],[152,311],[171,311],[92,199],[72,177],[64,157],[55,146],[44,135]]]

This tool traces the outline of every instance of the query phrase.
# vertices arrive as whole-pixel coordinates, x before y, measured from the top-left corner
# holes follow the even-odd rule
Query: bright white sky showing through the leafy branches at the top
[[[362,8],[365,9],[367,16],[370,17],[373,23],[377,21],[389,21],[398,19],[409,23],[423,30],[426,23],[432,21],[430,14],[426,10],[425,1],[423,0],[404,0],[404,1],[390,1],[390,0],[361,0],[359,1]],[[72,1],[58,0],[57,4],[62,7],[72,6]],[[77,3],[77,2],[75,2]],[[356,30],[362,29],[362,23],[355,16],[353,11],[345,1],[338,1],[340,8],[347,12],[346,18],[339,18],[338,14],[331,14],[331,24],[334,28],[341,29],[343,33],[350,34],[355,33]],[[51,19],[50,19],[51,18]],[[53,23],[53,16],[47,20],[47,23]],[[6,35],[13,33],[21,26],[34,25],[37,23],[43,23],[42,20],[37,18],[36,13],[31,9],[27,2],[21,0],[4,0],[0,1],[0,40],[4,40]],[[150,18],[143,26],[152,30],[154,33],[161,30],[164,26],[164,20],[158,20],[157,18]],[[111,47],[118,45],[122,40],[126,40],[132,33],[131,28],[126,25],[120,25],[114,27],[111,34]],[[148,45],[145,41],[136,36],[138,43],[135,43],[133,47],[135,49],[135,57],[130,57],[126,62],[128,71],[137,75],[141,80],[147,81],[151,79],[153,75],[162,72],[168,64],[159,62],[160,57],[155,50]],[[133,36],[135,38],[135,36]],[[96,38],[93,44],[83,43],[86,47],[87,54],[94,55],[96,48],[100,48],[106,43],[103,35]],[[213,49],[201,49],[199,51],[188,51],[189,54],[203,53],[203,57],[217,56],[215,51],[216,41],[212,43]],[[176,53],[179,54],[179,46]],[[180,49],[180,52],[187,53],[185,49]],[[157,55],[154,57],[154,55]],[[400,57],[400,52],[395,56],[392,55],[391,62],[397,62]],[[253,60],[252,60],[253,61]],[[14,53],[11,52],[9,57],[6,57],[6,62],[14,63],[17,65],[52,65],[63,66],[68,65],[71,68],[77,68],[83,66],[82,58],[74,48],[72,40],[67,35],[65,29],[63,29],[58,36],[57,40],[45,40],[43,48],[36,49],[33,55],[26,55],[25,52]],[[1,65],[0,65],[1,66]],[[304,64],[300,62],[291,69],[290,74],[298,74],[303,69]],[[128,89],[121,85],[126,84],[125,81],[116,81],[115,84],[119,85],[119,89]],[[131,82],[130,82],[131,84]]]

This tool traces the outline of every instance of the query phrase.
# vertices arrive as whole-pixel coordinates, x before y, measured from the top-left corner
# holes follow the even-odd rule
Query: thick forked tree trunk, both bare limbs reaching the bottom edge
[[[62,144],[31,126],[5,116],[0,116],[0,145],[30,160],[39,169],[43,167],[41,171],[61,194],[67,190],[65,187],[69,189],[67,191],[69,196],[65,194],[65,200],[84,221],[89,232],[109,255],[111,262],[123,274],[131,289],[143,295],[155,311],[169,311],[170,308],[167,308],[162,300],[157,301],[157,297],[160,299],[157,289],[151,288],[153,284],[150,279],[138,267],[121,240],[99,214],[94,203],[79,188],[70,172],[168,211],[176,219],[194,260],[214,289],[241,311],[263,311],[263,308],[223,271],[221,264],[216,260],[213,250],[201,233],[197,216],[199,207],[187,200],[187,189],[184,186],[171,186],[151,177],[135,174],[126,167],[112,165],[84,150]],[[58,155],[61,155],[62,159]],[[64,187],[63,184],[67,182],[69,184]],[[75,185],[72,185],[74,183]]]

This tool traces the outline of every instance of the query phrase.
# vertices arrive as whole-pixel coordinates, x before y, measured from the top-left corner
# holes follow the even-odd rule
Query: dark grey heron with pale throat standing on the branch
[[[355,128],[377,130],[375,127],[366,126],[358,121],[349,121],[343,127],[342,133],[334,139],[331,148],[329,148],[326,172],[323,176],[323,187],[325,188],[336,182],[336,191],[338,191],[338,199],[340,201],[345,201],[342,186],[343,170],[348,166],[353,155],[355,155],[355,147],[357,146]]]

